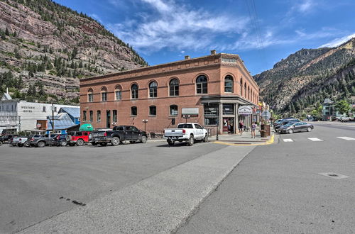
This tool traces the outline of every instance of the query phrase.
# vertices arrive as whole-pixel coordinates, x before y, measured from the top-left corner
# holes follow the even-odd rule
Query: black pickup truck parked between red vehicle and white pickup
[[[113,130],[97,130],[92,131],[92,145],[100,144],[102,146],[111,143],[111,145],[119,145],[126,140],[130,143],[147,142],[147,133],[139,130],[135,126],[115,126]]]

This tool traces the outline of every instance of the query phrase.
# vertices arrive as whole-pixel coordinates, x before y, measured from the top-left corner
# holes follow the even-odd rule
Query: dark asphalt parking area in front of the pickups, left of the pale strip
[[[183,162],[226,147],[0,147],[0,233],[15,232]]]

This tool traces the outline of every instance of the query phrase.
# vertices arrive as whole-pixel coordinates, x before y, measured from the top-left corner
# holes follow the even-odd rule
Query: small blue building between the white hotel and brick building
[[[46,133],[53,131],[53,116],[47,116]],[[54,116],[54,133],[67,133],[69,128],[80,126],[80,107],[62,107],[58,111],[58,115]]]

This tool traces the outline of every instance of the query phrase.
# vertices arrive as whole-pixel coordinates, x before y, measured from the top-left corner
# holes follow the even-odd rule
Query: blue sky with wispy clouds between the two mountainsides
[[[149,63],[241,56],[251,74],[302,48],[355,37],[354,0],[55,0],[102,23]]]

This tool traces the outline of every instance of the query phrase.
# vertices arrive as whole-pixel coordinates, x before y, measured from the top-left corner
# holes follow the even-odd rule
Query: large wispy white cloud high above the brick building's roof
[[[143,52],[171,48],[200,50],[211,47],[217,36],[239,35],[249,20],[241,16],[211,13],[176,4],[175,1],[141,0],[153,12],[140,13],[141,20],[107,24],[125,42]]]

